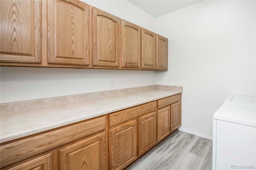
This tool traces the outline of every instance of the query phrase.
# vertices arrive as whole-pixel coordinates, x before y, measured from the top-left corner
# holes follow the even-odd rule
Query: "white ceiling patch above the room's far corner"
[[[128,0],[155,18],[196,4],[202,0]]]

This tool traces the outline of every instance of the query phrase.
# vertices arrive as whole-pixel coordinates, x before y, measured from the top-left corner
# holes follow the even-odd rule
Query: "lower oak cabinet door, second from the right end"
[[[170,106],[157,111],[157,142],[170,134]]]

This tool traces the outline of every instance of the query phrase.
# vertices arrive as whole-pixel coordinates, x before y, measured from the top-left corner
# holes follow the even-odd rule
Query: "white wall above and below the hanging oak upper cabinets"
[[[155,18],[126,0],[86,2],[155,31]],[[1,67],[0,76],[0,103],[156,84],[154,71]]]

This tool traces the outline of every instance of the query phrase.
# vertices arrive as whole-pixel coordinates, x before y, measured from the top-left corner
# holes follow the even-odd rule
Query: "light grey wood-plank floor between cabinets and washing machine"
[[[176,130],[126,170],[211,170],[212,140]]]

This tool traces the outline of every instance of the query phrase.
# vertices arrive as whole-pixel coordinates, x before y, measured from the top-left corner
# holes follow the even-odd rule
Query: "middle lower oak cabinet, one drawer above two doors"
[[[111,170],[124,169],[156,145],[156,102],[112,113],[109,118]]]

